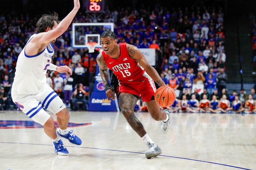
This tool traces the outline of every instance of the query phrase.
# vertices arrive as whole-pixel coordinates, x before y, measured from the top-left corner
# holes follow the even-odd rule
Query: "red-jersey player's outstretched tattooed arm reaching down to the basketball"
[[[142,66],[145,71],[148,73],[148,75],[161,87],[164,86],[165,83],[162,80],[162,78],[159,76],[159,74],[157,73],[156,69],[154,67],[152,67],[151,65],[149,65],[147,59],[145,58],[145,56],[140,52],[140,50],[130,44],[126,45],[127,50],[128,50],[128,54],[129,56],[134,59],[137,60],[137,62],[140,64],[140,66]]]

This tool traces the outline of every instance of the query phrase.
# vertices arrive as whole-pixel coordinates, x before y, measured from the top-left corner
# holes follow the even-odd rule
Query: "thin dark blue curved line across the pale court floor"
[[[28,144],[28,143],[14,143],[14,142],[0,142],[0,143],[3,143],[3,144]],[[51,144],[32,144],[32,145],[52,146]],[[89,148],[89,147],[82,147],[82,146],[66,146],[66,147],[85,148],[85,149],[98,149],[98,150],[105,150],[105,151],[117,151],[117,152],[129,152],[129,153],[140,153],[140,154],[144,154],[144,153],[141,153],[141,152],[120,151],[120,150],[114,150],[114,149]],[[220,164],[220,163],[215,163],[215,162],[208,162],[208,161],[204,161],[204,160],[189,159],[189,158],[181,158],[181,157],[168,156],[168,155],[159,155],[159,156],[164,156],[164,157],[169,157],[169,158],[186,159],[186,160],[194,160],[194,161],[198,161],[198,162],[205,162],[205,163],[210,163],[210,164],[216,164],[216,165],[222,165],[222,166],[229,166],[229,167],[233,167],[233,168],[252,170],[252,169],[242,168],[242,167],[238,167],[238,166],[225,165],[225,164]]]

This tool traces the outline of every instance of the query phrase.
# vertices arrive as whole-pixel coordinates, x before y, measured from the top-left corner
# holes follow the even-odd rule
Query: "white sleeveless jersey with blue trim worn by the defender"
[[[35,35],[36,34],[33,34],[28,42]],[[26,46],[18,56],[12,92],[18,94],[37,94],[39,88],[46,84],[45,74],[47,67],[51,63],[54,47],[51,43],[40,53],[32,56],[25,53],[25,48]]]

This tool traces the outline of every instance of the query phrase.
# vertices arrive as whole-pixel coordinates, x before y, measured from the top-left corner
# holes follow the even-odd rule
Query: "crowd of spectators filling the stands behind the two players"
[[[3,103],[0,109],[9,109],[12,105],[10,88],[17,58],[35,33],[39,17],[18,15],[15,11],[0,13],[0,104]],[[92,22],[92,18],[79,12],[73,22]],[[159,6],[149,10],[142,5],[133,10],[129,7],[107,8],[98,22],[114,22],[118,42],[138,48],[155,48],[161,78],[167,85],[180,90],[178,98],[182,94],[189,97],[196,93],[192,92],[192,87],[197,84],[204,85],[204,93],[209,99],[226,88],[225,29],[221,7],[202,5],[168,10]],[[71,33],[70,26],[53,44],[52,63],[67,65],[73,75],[48,70],[47,83],[71,108],[87,109],[89,83],[95,74],[98,51],[89,53],[88,49],[72,48]],[[79,104],[83,104],[82,107]]]

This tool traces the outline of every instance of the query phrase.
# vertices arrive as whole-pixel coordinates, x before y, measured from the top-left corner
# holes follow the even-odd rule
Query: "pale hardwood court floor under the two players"
[[[57,156],[43,128],[20,111],[2,111],[0,169],[256,169],[256,115],[174,113],[167,134],[148,113],[136,116],[162,156],[145,158],[146,145],[121,113],[71,112],[78,124],[69,129],[83,143],[63,139],[69,156]]]

